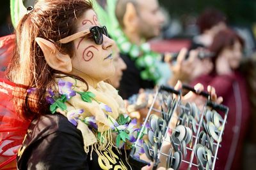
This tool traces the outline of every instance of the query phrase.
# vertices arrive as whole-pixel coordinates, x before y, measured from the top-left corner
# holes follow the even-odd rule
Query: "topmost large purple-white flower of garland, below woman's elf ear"
[[[67,99],[70,99],[72,96],[76,96],[76,92],[72,90],[72,85],[73,83],[60,79],[58,81],[59,93],[66,95]]]

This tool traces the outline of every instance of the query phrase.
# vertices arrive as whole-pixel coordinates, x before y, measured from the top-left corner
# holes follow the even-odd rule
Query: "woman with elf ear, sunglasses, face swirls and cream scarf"
[[[115,42],[92,4],[40,0],[27,10],[7,71],[15,110],[31,121],[18,169],[141,169],[125,152],[140,128],[104,82]]]

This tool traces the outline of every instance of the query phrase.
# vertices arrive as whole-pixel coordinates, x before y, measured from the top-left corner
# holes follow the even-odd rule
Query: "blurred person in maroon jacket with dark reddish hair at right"
[[[191,82],[191,85],[202,83],[214,87],[216,93],[223,97],[223,104],[229,108],[216,169],[242,168],[243,143],[250,119],[248,84],[239,71],[243,45],[243,39],[231,29],[219,31],[209,46],[209,50],[215,53],[211,73]],[[205,66],[198,64],[198,67]]]

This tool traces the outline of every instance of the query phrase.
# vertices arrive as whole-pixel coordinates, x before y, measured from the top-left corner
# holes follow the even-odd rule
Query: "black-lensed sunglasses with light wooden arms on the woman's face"
[[[106,26],[103,26],[103,27],[94,26],[90,29],[80,31],[80,32],[77,32],[76,34],[72,34],[70,36],[67,36],[66,38],[60,39],[58,42],[62,44],[69,43],[70,41],[74,41],[75,39],[86,36],[88,34],[92,35],[92,38],[97,45],[102,45],[103,34],[109,37]]]

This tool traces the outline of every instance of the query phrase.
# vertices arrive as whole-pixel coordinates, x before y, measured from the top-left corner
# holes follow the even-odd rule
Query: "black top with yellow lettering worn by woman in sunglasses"
[[[114,168],[131,169],[125,155],[120,155],[115,148],[114,158],[109,157],[108,150],[103,153]],[[84,152],[83,136],[67,118],[58,113],[44,115],[34,120],[17,155],[18,169],[103,169],[96,152],[92,152],[92,160]],[[112,154],[113,155],[113,154]]]

